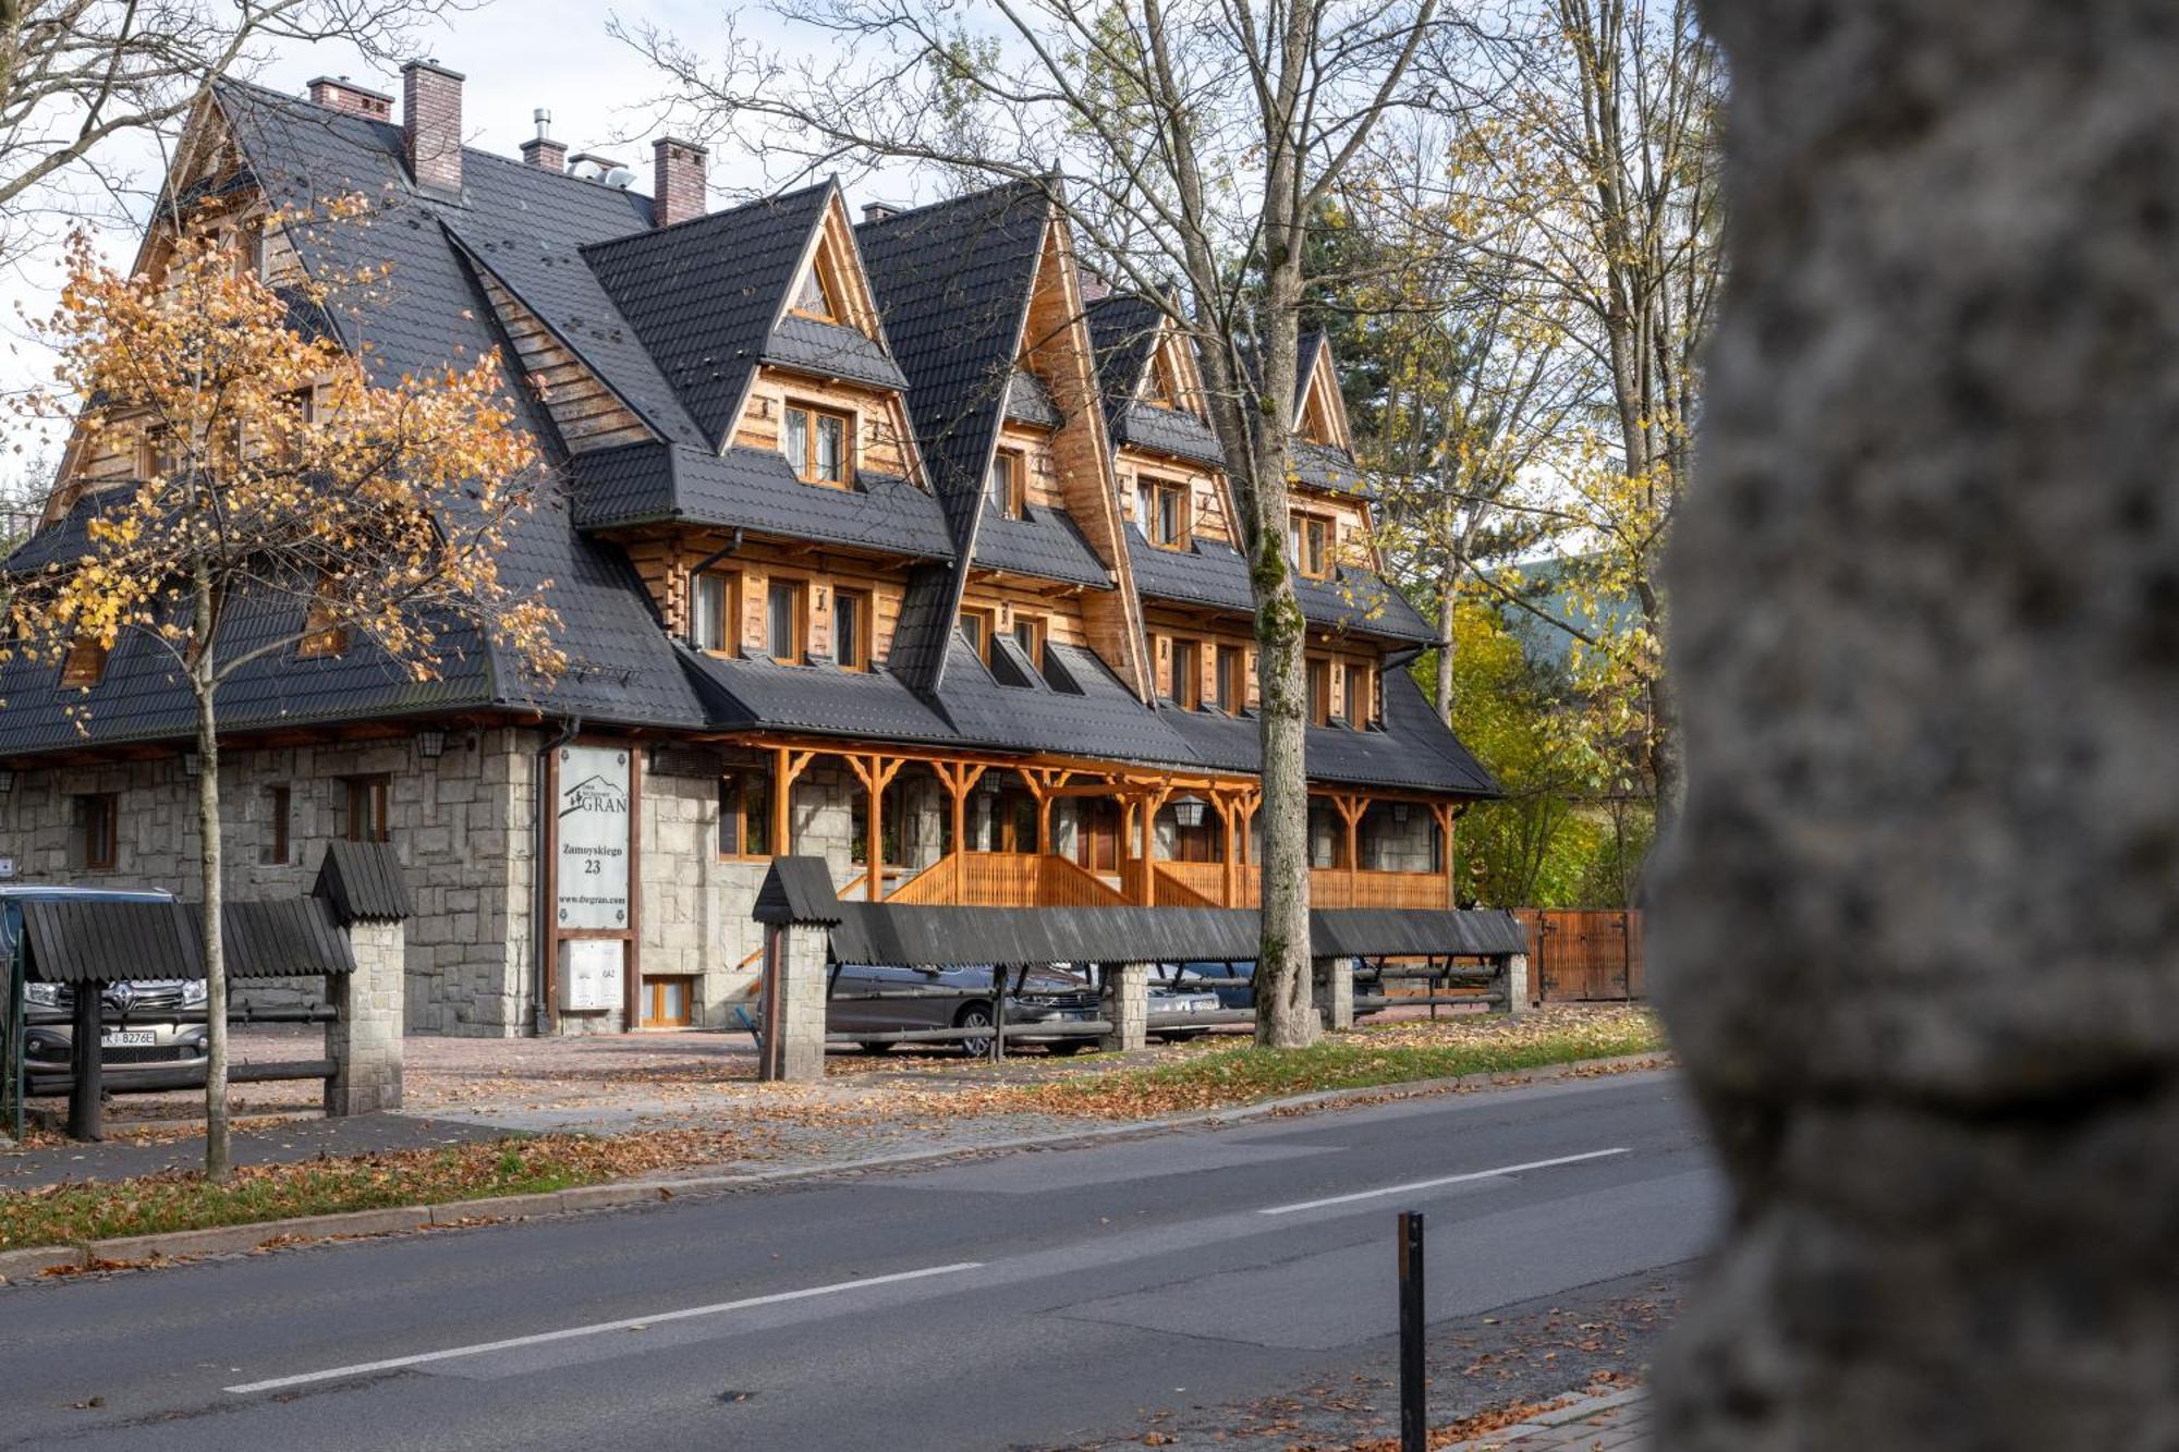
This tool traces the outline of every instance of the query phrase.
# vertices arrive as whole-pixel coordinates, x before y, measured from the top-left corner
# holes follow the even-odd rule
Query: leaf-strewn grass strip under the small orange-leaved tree
[[[656,1132],[610,1140],[558,1134],[299,1164],[246,1164],[227,1184],[183,1171],[63,1182],[0,1193],[0,1249],[534,1195],[732,1153],[734,1136],[715,1132]]]

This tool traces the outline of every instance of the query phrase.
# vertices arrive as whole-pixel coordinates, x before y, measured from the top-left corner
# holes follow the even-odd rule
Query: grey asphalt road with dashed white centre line
[[[1697,1258],[1682,1086],[1626,1075],[0,1291],[0,1448],[1094,1441],[1429,1315]]]

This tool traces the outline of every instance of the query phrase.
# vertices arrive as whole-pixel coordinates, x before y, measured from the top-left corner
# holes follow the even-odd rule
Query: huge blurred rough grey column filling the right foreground
[[[2179,28],[1708,0],[1654,985],[1734,1197],[1658,1445],[2179,1439]]]

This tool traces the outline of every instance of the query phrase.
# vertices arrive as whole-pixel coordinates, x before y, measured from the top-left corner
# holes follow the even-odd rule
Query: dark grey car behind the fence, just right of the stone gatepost
[[[1090,979],[1066,968],[1009,972],[1007,1027],[1052,1027],[1096,1023],[1098,994]],[[900,1033],[911,1029],[989,1029],[991,968],[902,968],[893,964],[843,964],[832,975],[826,999],[826,1029],[832,1033]],[[991,1051],[989,1036],[957,1040],[970,1055]],[[1096,1042],[1094,1031],[1039,1040],[1052,1053],[1081,1053]],[[885,1053],[887,1040],[863,1040],[865,1053]]]

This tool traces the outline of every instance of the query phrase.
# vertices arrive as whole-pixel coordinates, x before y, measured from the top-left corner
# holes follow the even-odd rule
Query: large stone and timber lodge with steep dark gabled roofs
[[[434,63],[399,120],[344,81],[227,85],[170,185],[207,227],[370,198],[235,235],[275,283],[390,264],[368,314],[322,318],[373,375],[501,351],[553,464],[501,576],[551,582],[571,665],[538,689],[477,639],[421,685],[362,641],[255,663],[222,693],[229,892],[390,839],[407,1031],[488,1036],[728,1020],[784,850],[848,898],[1253,903],[1253,604],[1196,364],[1092,297],[1046,198],[856,222],[826,183],[706,214],[697,146],[656,142],[643,196],[543,129],[521,161],[462,148],[460,98]],[[1303,364],[1314,900],[1447,907],[1495,785],[1403,669],[1436,630],[1379,578],[1329,349]],[[142,469],[72,449],[11,567],[68,558]],[[0,700],[17,879],[194,890],[190,695],[153,643],[17,661]]]

